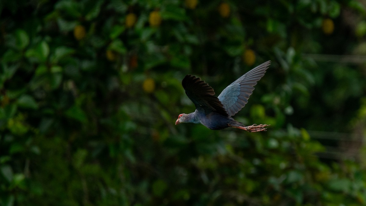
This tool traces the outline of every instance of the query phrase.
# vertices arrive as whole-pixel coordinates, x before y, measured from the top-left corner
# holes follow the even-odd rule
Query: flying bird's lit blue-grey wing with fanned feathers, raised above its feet
[[[229,116],[238,113],[245,106],[253,93],[254,85],[264,76],[270,63],[271,61],[267,61],[248,71],[221,92],[218,98]]]

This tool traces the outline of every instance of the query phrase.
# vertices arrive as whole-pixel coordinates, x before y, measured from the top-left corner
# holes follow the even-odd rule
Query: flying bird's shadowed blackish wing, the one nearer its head
[[[221,115],[228,117],[227,111],[224,109],[220,100],[213,96],[215,92],[201,78],[192,75],[186,75],[182,81],[184,90],[188,98],[194,103],[197,110],[202,108],[205,114],[215,111]]]

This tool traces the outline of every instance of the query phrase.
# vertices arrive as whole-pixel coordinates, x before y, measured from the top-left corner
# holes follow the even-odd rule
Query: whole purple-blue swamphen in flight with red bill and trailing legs
[[[248,102],[254,85],[264,76],[270,63],[271,61],[267,61],[248,71],[226,87],[219,97],[213,96],[215,94],[213,88],[201,78],[186,75],[182,85],[186,95],[196,106],[196,110],[190,114],[180,114],[175,124],[201,123],[209,129],[225,129],[231,126],[248,132],[265,131],[265,126],[269,125],[244,126],[231,116],[238,113]]]

